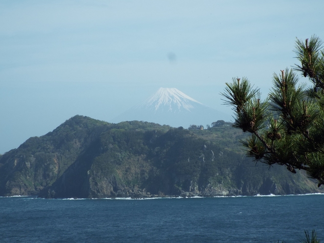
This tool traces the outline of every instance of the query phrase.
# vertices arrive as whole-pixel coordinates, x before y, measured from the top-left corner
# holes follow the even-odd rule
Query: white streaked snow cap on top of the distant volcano
[[[136,108],[147,109],[151,107],[152,109],[153,106],[155,110],[158,110],[159,107],[165,107],[169,111],[180,110],[181,108],[190,111],[194,108],[193,103],[202,104],[176,88],[160,88],[153,96],[140,103]]]

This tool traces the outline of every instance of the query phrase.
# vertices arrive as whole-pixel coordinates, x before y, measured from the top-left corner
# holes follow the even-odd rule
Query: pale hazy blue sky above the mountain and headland
[[[77,114],[109,121],[160,87],[231,113],[224,83],[244,76],[268,93],[273,73],[296,63],[296,37],[324,40],[323,9],[323,0],[0,0],[0,153]]]

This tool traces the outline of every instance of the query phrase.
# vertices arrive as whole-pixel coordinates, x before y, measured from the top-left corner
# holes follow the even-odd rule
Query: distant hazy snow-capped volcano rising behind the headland
[[[231,116],[192,99],[176,88],[160,88],[153,96],[125,111],[112,122],[148,121],[173,127],[230,121]]]

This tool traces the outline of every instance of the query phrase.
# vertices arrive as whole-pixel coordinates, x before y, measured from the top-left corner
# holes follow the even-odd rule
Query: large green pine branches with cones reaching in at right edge
[[[260,90],[243,78],[226,83],[225,104],[234,106],[233,126],[251,136],[243,141],[247,155],[268,164],[283,165],[291,173],[305,170],[324,184],[324,51],[322,41],[312,36],[297,40],[294,52],[300,64],[273,75],[266,100]],[[298,75],[311,86],[298,84]]]

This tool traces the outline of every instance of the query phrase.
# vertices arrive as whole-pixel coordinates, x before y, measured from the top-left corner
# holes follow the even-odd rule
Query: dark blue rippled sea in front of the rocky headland
[[[324,241],[324,195],[60,200],[0,198],[1,243]]]

